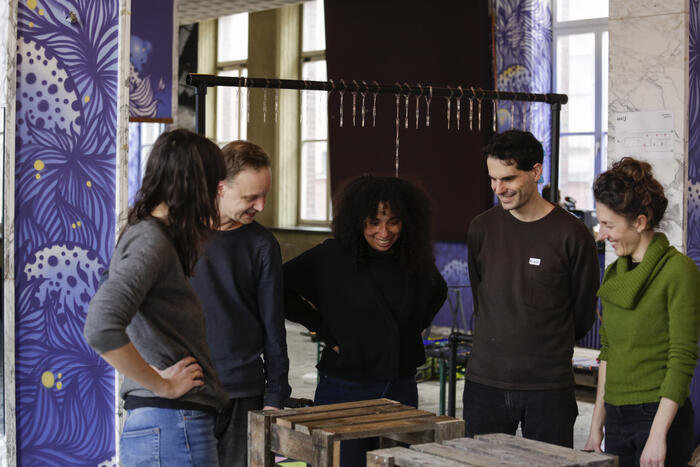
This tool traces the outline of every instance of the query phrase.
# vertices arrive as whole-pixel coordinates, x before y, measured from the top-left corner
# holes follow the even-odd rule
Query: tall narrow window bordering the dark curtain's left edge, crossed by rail
[[[301,79],[326,81],[326,34],[323,1],[303,3]],[[327,223],[330,219],[328,173],[328,94],[301,93],[301,148],[299,180],[300,223]]]

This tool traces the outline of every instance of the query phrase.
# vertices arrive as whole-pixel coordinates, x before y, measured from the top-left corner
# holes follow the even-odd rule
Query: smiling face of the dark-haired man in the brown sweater
[[[542,164],[535,164],[530,170],[520,170],[515,163],[506,162],[511,161],[490,156],[486,159],[491,189],[498,196],[503,209],[517,212],[535,201]]]

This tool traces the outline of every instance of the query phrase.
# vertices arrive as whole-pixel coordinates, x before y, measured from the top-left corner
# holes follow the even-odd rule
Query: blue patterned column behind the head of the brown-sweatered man
[[[496,89],[552,92],[552,8],[549,0],[497,0]],[[549,181],[551,109],[549,104],[508,101],[498,105],[498,131],[527,129],[542,142],[543,178]]]

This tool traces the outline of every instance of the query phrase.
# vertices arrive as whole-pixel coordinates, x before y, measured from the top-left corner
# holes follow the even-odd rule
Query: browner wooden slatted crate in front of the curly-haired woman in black
[[[387,445],[460,436],[464,436],[464,420],[389,399],[253,411],[248,415],[248,465],[271,467],[279,454],[314,466],[338,466],[342,440],[380,437]]]

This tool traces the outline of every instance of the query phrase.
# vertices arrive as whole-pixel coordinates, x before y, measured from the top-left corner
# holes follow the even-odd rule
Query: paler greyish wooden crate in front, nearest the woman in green
[[[393,447],[367,453],[368,467],[457,467],[527,465],[616,467],[616,456],[577,451],[506,434],[478,435],[442,443]]]

